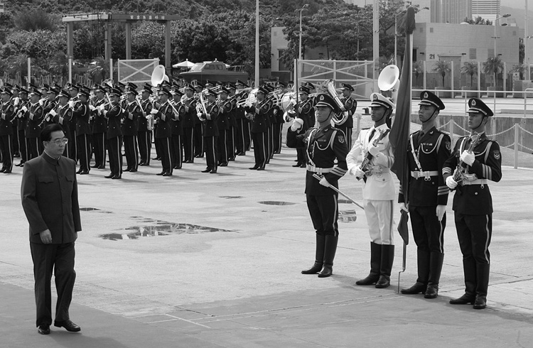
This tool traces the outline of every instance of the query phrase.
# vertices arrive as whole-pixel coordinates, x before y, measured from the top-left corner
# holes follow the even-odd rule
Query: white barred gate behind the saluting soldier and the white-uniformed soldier
[[[325,80],[335,80],[335,87],[342,82],[352,85],[353,97],[368,99],[377,81],[372,60],[298,60],[298,82],[321,85]]]

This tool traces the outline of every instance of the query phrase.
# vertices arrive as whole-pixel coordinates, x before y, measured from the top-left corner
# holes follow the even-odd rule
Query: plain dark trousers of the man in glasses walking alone
[[[50,281],[55,275],[58,302],[55,305],[55,320],[69,320],[68,308],[72,300],[72,289],[76,280],[74,271],[74,243],[38,244],[30,243],[35,278],[35,300],[37,305],[37,326],[52,324],[52,298]]]

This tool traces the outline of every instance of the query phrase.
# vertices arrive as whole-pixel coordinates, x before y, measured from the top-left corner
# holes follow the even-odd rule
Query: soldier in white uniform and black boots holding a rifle
[[[392,232],[394,180],[390,168],[394,154],[389,143],[390,117],[395,105],[379,93],[370,96],[372,121],[368,131],[361,131],[352,150],[346,156],[348,171],[362,181],[362,198],[370,232],[370,274],[357,281],[360,286],[375,284],[376,288],[390,285],[394,261]],[[362,155],[362,163],[357,158]]]

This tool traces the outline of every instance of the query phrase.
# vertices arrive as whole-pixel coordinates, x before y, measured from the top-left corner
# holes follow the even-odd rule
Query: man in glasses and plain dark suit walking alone
[[[58,290],[54,325],[77,332],[80,327],[70,320],[68,314],[76,279],[74,242],[77,232],[82,230],[76,164],[62,156],[68,139],[59,124],[46,126],[41,131],[41,141],[45,151],[24,164],[21,184],[22,207],[30,225],[36,324],[40,334],[50,333],[50,281],[53,271]]]

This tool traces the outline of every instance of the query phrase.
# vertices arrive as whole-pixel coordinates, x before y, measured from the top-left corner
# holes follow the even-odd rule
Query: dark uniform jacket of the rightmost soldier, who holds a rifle
[[[444,163],[443,174],[453,175],[459,161],[461,153],[470,146],[468,136],[459,138],[450,158]],[[485,133],[481,134],[473,153],[475,161],[472,166],[468,165],[470,174],[475,174],[478,179],[486,179],[494,182],[502,178],[502,153],[500,145],[496,141],[487,138]],[[492,196],[488,185],[458,185],[456,194],[453,196],[453,211],[467,215],[492,214]]]

